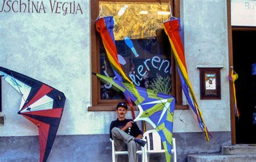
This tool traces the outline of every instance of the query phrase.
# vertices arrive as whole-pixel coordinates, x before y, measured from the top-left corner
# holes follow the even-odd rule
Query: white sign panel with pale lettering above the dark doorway
[[[256,1],[231,0],[231,25],[256,26]]]

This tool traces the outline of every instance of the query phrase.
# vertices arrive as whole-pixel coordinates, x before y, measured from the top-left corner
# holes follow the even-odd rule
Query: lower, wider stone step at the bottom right
[[[223,155],[223,154],[192,154],[188,162],[255,162],[256,154]]]

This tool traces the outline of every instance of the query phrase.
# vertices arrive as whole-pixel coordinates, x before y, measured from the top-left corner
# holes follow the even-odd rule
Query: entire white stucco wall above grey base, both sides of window
[[[65,93],[58,134],[107,134],[116,114],[87,111],[91,105],[90,1],[76,1],[83,14],[65,16],[51,14],[49,1],[43,2],[45,14],[0,12],[0,66]],[[210,131],[230,131],[226,2],[186,0],[181,3],[181,13],[188,75],[205,123]],[[199,99],[197,65],[224,66],[221,100]],[[4,80],[2,88],[0,114],[5,114],[6,121],[0,126],[0,136],[37,135],[37,127],[17,114],[21,95]],[[174,116],[174,132],[200,131],[191,110],[177,110]]]

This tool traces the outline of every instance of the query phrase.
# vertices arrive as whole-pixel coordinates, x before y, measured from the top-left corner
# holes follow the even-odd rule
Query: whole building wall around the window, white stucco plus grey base
[[[111,161],[109,125],[116,113],[93,110],[94,5],[89,0],[0,2],[0,66],[51,85],[66,96],[48,161]],[[179,2],[188,75],[213,139],[206,142],[191,109],[175,110],[178,161],[186,161],[192,153],[220,152],[221,146],[232,144],[228,5],[224,0]],[[221,68],[221,99],[200,99],[200,67]],[[17,114],[20,102],[21,95],[2,80],[0,161],[39,158],[38,129]],[[187,104],[184,97],[182,104]],[[151,159],[164,161],[165,156]]]

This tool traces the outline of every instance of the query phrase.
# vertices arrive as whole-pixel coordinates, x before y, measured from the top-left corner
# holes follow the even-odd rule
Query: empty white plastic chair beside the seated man
[[[146,131],[143,134],[143,138],[147,140],[147,144],[144,146],[144,159],[146,162],[149,161],[151,153],[165,152],[161,145],[161,138],[156,130]],[[172,138],[172,154],[173,162],[177,162],[175,138]]]

